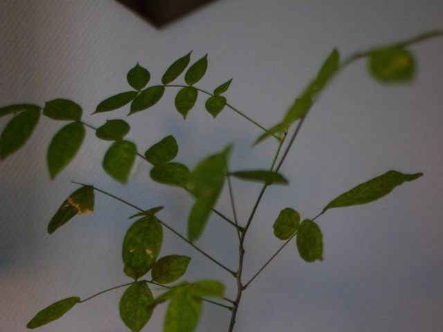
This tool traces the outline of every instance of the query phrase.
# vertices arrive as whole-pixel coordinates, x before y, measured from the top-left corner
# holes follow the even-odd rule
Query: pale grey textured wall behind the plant
[[[208,90],[233,77],[228,102],[266,126],[277,122],[333,47],[343,55],[383,42],[443,28],[440,0],[217,1],[158,31],[119,3],[96,0],[0,1],[0,104],[53,98],[75,100],[89,114],[102,99],[125,91],[125,75],[140,62],[159,82],[165,68],[193,50],[209,53],[199,86]],[[307,264],[292,243],[248,288],[237,331],[440,331],[443,326],[443,39],[413,46],[415,83],[386,88],[359,62],[323,95],[302,127],[282,172],[290,187],[266,192],[246,243],[246,278],[280,245],[271,225],[287,206],[312,217],[334,196],[388,169],[424,172],[381,201],[331,210],[318,219],[325,261]],[[178,160],[193,165],[229,142],[233,169],[268,167],[275,142],[249,149],[260,131],[229,109],[213,120],[203,100],[183,121],[174,92],[128,118],[129,138],[141,151],[174,133]],[[86,116],[91,124],[125,116]],[[125,119],[126,120],[126,119]],[[0,129],[8,118],[0,119]],[[120,243],[133,210],[97,195],[96,213],[55,234],[51,216],[75,186],[92,183],[145,208],[165,205],[161,218],[186,232],[192,200],[150,181],[136,162],[127,186],[107,177],[100,163],[108,144],[89,131],[82,150],[55,181],[46,171],[48,142],[62,123],[42,119],[30,142],[0,163],[0,326],[25,331],[44,306],[71,295],[87,297],[127,282]],[[210,137],[210,139],[208,139]],[[260,185],[235,182],[244,222]],[[230,214],[228,199],[219,210]],[[234,268],[235,233],[214,216],[198,244]],[[233,297],[224,270],[165,231],[162,255],[193,260],[188,280],[217,278]],[[42,331],[125,331],[118,317],[122,290],[76,306]],[[161,331],[163,308],[150,328]],[[198,331],[226,331],[228,312],[205,305]]]

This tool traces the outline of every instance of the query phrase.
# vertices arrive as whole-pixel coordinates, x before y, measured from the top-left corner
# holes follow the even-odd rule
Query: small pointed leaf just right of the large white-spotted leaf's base
[[[190,260],[190,257],[181,255],[161,257],[152,268],[152,279],[160,284],[175,282],[186,273]]]

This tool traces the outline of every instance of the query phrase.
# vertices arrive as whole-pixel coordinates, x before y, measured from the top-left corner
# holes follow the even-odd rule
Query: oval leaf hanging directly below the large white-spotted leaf
[[[145,282],[136,282],[129,286],[120,299],[120,317],[132,332],[139,332],[150,320],[154,308],[154,297]]]

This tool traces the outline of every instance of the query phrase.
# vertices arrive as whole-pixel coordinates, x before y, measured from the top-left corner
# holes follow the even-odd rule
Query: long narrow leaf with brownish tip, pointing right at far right
[[[413,181],[422,175],[423,173],[403,174],[390,170],[385,174],[372,178],[365,183],[361,183],[360,185],[357,185],[351,190],[336,197],[336,199],[333,199],[325,206],[323,212],[332,208],[343,208],[345,206],[359,205],[376,201],[377,199],[381,199],[381,197],[392,192],[392,190],[398,185]]]

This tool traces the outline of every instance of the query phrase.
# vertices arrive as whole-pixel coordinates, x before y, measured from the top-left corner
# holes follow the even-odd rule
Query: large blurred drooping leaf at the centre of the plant
[[[196,196],[188,217],[188,239],[196,241],[208,222],[224,185],[227,158],[231,147],[202,160],[190,175],[188,190]]]

